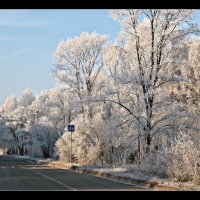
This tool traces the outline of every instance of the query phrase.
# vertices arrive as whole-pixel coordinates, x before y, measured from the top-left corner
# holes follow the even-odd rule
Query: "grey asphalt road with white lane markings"
[[[0,156],[0,190],[144,190],[141,186]]]

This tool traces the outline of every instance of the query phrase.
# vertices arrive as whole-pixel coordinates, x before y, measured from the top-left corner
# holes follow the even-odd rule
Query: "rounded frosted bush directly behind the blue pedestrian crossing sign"
[[[73,133],[73,162],[81,164],[97,164],[102,157],[105,125],[100,115],[92,119],[77,117],[74,121],[76,132]],[[57,141],[58,156],[61,160],[70,158],[70,133],[65,132]]]

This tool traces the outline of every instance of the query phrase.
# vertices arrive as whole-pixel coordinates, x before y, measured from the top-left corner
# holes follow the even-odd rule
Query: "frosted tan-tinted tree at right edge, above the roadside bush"
[[[198,46],[199,39],[197,37],[182,49],[176,57],[177,62],[172,69],[173,74],[179,77],[180,81],[168,85],[165,90],[173,99],[173,103],[168,109],[168,113],[171,113],[170,121],[173,124],[171,133],[187,132],[190,129],[191,136],[195,138],[196,143],[199,142],[200,130]],[[174,109],[175,107],[176,109]],[[173,135],[174,138],[176,135]]]

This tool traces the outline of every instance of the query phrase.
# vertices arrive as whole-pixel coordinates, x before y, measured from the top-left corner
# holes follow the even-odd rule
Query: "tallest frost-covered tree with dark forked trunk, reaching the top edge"
[[[171,73],[176,66],[176,57],[188,44],[189,35],[198,31],[192,22],[193,14],[193,10],[183,9],[111,11],[113,19],[121,24],[121,31],[118,41],[106,55],[106,65],[114,82],[124,86],[123,90],[115,92],[116,98],[112,102],[135,118],[144,133],[147,152],[154,129],[158,129],[159,124],[170,128],[168,115],[160,115],[157,110],[162,107],[164,97],[169,100],[161,91],[165,91],[170,82],[178,80]],[[124,94],[129,94],[133,103],[139,103],[137,112],[135,106],[124,99]]]

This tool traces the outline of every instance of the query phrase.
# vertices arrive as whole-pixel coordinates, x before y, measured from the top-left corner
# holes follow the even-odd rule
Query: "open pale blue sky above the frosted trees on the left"
[[[53,53],[58,42],[81,32],[96,31],[114,40],[119,25],[107,10],[0,10],[0,104],[55,86]]]

